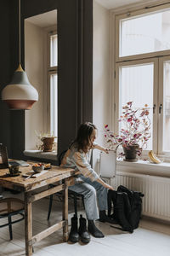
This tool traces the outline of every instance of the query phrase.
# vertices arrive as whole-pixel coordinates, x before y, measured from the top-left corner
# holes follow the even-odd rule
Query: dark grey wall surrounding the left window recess
[[[19,61],[18,1],[0,2],[0,90]],[[24,19],[58,9],[59,33],[59,152],[76,136],[83,121],[92,121],[93,0],[21,0],[21,63],[24,67]],[[9,111],[0,101],[0,143],[10,157],[25,149],[25,112]]]

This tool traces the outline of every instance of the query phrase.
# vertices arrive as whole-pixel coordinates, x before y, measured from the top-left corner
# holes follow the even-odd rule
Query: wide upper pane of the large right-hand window
[[[120,20],[120,56],[170,49],[170,10]]]

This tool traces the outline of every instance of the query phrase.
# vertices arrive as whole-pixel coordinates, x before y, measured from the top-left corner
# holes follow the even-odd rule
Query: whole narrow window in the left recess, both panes
[[[58,136],[58,84],[57,84],[57,33],[48,34],[49,58],[48,58],[48,84],[49,84],[49,130],[54,137]]]

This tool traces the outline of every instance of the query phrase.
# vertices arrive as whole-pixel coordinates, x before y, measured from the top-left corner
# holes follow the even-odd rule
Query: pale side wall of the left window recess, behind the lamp
[[[34,103],[31,110],[26,111],[26,149],[36,148],[37,137],[35,131],[45,132],[43,125],[42,109],[46,108],[47,101],[43,102],[42,88],[45,86],[44,67],[47,60],[44,60],[43,53],[46,49],[47,32],[39,26],[25,21],[25,70],[31,84],[37,89],[39,94],[38,102]],[[47,50],[46,50],[47,51]],[[45,78],[47,81],[47,75]],[[46,83],[47,86],[47,83]]]

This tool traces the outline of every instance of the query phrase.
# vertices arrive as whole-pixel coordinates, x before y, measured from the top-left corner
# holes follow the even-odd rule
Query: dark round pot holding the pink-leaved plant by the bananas
[[[124,159],[125,161],[129,161],[129,162],[138,161],[136,156],[139,150],[139,144],[126,145],[126,146],[122,146],[122,148],[125,154],[125,159]]]

